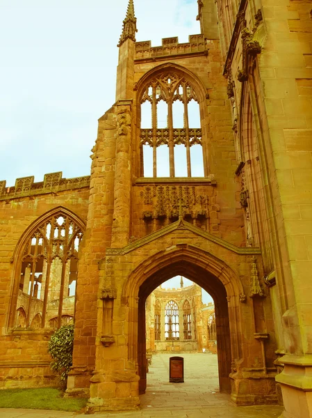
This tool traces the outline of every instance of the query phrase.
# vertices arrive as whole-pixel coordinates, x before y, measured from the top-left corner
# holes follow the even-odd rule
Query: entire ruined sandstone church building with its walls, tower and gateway
[[[312,417],[311,2],[197,3],[200,33],[157,46],[122,11],[90,176],[0,181],[1,390],[53,387],[74,323],[89,413],[138,409],[154,356],[197,353],[234,405]]]

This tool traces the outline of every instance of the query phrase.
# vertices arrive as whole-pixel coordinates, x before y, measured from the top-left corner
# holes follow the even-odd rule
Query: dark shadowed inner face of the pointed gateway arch
[[[213,297],[215,302],[220,392],[229,393],[231,391],[229,374],[231,373],[232,356],[226,288],[220,279],[214,274],[211,274],[211,272],[208,272],[199,263],[190,263],[186,259],[180,259],[160,268],[140,285],[138,293],[138,366],[140,373],[140,394],[144,394],[147,387],[145,302],[151,292],[176,275],[188,277],[188,279],[201,286]]]

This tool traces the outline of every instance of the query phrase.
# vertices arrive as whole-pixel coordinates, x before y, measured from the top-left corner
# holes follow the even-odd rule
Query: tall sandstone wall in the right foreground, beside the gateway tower
[[[304,392],[296,393],[295,374],[306,373],[299,371],[302,356],[311,353],[311,2],[232,2],[231,19],[222,3],[224,75],[236,108],[236,154],[245,162],[238,176],[270,286],[279,371],[278,358],[291,355],[277,381],[285,414],[308,417],[311,406]]]

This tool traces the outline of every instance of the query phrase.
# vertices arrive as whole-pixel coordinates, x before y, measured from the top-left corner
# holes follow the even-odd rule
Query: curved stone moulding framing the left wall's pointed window
[[[31,235],[34,233],[36,229],[42,224],[43,222],[47,221],[49,218],[51,218],[54,215],[66,215],[67,217],[71,218],[72,221],[74,221],[81,231],[85,232],[85,222],[76,215],[72,210],[69,210],[65,208],[64,206],[57,206],[56,208],[53,208],[49,210],[48,212],[45,212],[44,214],[40,215],[37,219],[35,219],[34,222],[32,222],[30,225],[27,226],[24,233],[22,233],[21,238],[19,238],[19,241],[17,242],[17,245],[13,251],[13,256],[10,259],[10,263],[13,264],[13,277],[11,281],[11,292],[10,292],[10,315],[8,316],[8,323],[6,328],[13,327],[13,320],[14,320],[14,312],[15,312],[15,305],[17,303],[17,293],[19,288],[19,262],[21,260],[22,256],[22,249],[24,245],[26,245],[26,242],[31,238]]]

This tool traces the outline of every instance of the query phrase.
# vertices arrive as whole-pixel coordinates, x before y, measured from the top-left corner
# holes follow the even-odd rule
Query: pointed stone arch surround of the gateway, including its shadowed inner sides
[[[129,307],[128,358],[138,362],[140,394],[145,392],[145,300],[163,281],[184,273],[202,286],[215,300],[217,336],[220,344],[220,390],[230,392],[231,367],[242,358],[240,295],[243,285],[238,275],[222,260],[192,245],[174,245],[149,257],[134,270],[124,284],[122,300]],[[144,341],[143,341],[144,340]],[[221,354],[222,353],[222,354]]]

